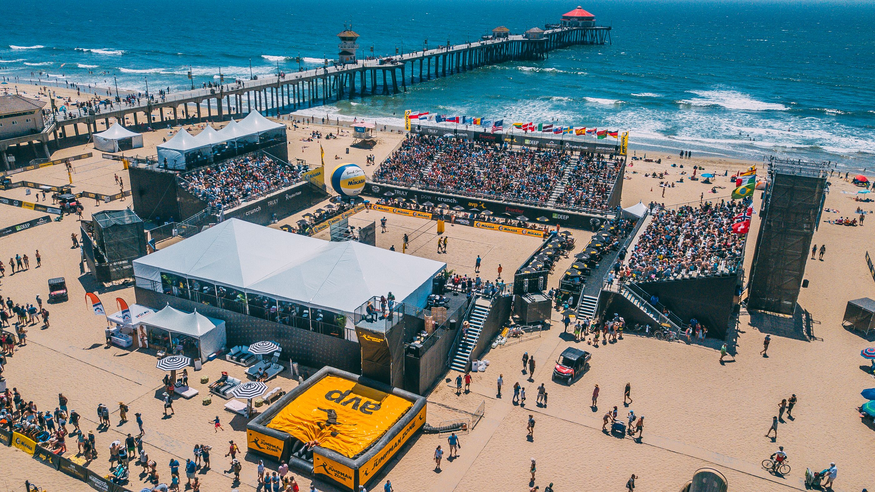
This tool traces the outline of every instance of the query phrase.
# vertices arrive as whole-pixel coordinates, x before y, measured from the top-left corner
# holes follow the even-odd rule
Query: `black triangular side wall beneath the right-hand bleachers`
[[[725,338],[734,307],[737,274],[684,278],[665,282],[638,284],[644,292],[655,295],[684,323],[696,318],[708,328],[708,335]]]

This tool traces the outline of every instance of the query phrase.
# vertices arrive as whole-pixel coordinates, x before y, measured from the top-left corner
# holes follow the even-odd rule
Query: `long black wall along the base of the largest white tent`
[[[188,299],[168,296],[142,287],[134,288],[137,304],[161,309],[168,303],[176,309],[212,316],[225,321],[228,347],[250,345],[256,341],[276,341],[283,348],[283,359],[290,358],[305,366],[321,368],[333,366],[358,374],[361,371],[359,344],[330,335],[318,334],[301,328],[289,327],[262,320],[248,314],[235,313],[221,307],[207,306]]]

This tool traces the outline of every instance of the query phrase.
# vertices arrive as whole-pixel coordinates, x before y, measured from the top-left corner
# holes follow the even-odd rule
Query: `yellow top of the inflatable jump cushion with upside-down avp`
[[[352,458],[388,431],[413,402],[338,376],[325,376],[267,425]]]

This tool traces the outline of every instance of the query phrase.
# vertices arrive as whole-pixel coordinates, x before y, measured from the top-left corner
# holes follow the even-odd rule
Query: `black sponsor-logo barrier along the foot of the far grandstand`
[[[374,183],[372,181],[367,182],[364,189],[361,191],[361,194],[382,199],[386,198],[384,193],[387,192],[394,193],[394,197],[407,200],[415,198],[418,203],[430,201],[435,205],[445,203],[450,207],[459,205],[466,209],[473,207],[477,207],[480,210],[487,209],[500,217],[508,217],[508,215],[503,214],[511,214],[510,218],[514,218],[517,215],[526,215],[529,219],[534,220],[541,215],[545,215],[549,218],[549,225],[555,226],[556,222],[558,222],[563,227],[582,228],[584,230],[595,230],[607,217],[607,211],[605,214],[584,214],[546,207],[529,207],[516,203],[484,200],[482,198],[465,197],[451,193],[423,192],[412,188],[385,185],[383,183]],[[592,222],[592,219],[596,219],[598,223]]]

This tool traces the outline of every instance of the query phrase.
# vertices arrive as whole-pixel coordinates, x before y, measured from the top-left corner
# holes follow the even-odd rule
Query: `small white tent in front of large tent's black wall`
[[[207,356],[225,347],[226,343],[225,321],[204,316],[197,310],[194,313],[186,313],[165,306],[158,313],[144,316],[137,321],[137,327],[146,327],[147,331],[151,331],[151,328],[161,328],[170,333],[172,339],[179,338],[173,334],[183,334],[193,338],[198,341],[200,354],[196,356],[200,357],[201,362],[207,362]]]

